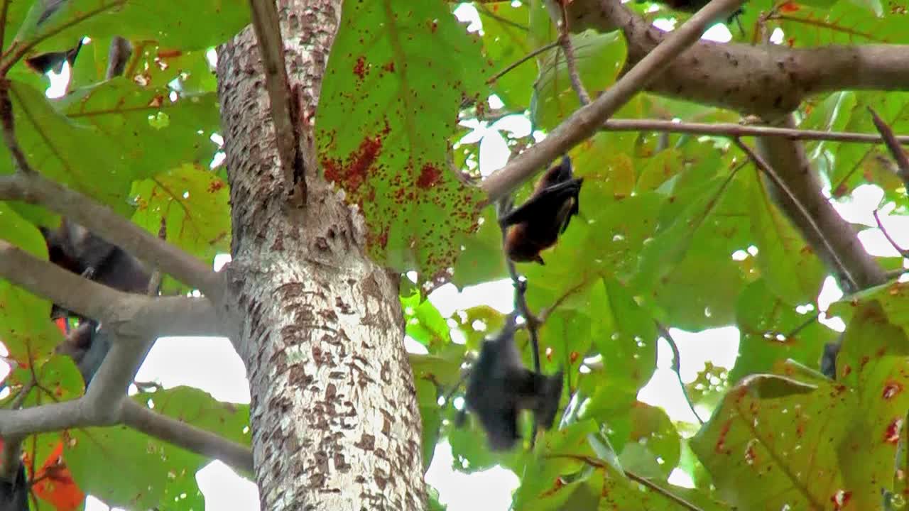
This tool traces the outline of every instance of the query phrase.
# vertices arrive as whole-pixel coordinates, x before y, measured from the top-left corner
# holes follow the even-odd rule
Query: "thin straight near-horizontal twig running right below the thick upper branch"
[[[610,119],[604,122],[600,129],[602,131],[657,131],[728,137],[780,136],[789,140],[827,140],[859,144],[879,144],[884,142],[883,136],[874,135],[873,133],[793,129],[763,125],[739,125],[735,123],[686,123],[663,119]],[[901,144],[909,144],[909,136],[894,136],[894,139]]]

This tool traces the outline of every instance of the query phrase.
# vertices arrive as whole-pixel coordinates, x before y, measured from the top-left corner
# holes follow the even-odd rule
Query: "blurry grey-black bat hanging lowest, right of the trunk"
[[[510,449],[521,437],[517,417],[532,410],[537,426],[549,429],[562,396],[562,371],[544,376],[524,367],[514,346],[514,316],[504,329],[487,339],[470,371],[467,410],[476,414],[494,451]]]

